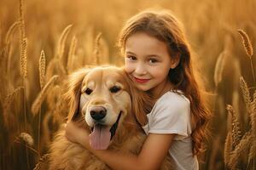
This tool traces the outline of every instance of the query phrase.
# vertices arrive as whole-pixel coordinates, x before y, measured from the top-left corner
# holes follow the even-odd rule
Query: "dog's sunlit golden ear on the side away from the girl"
[[[72,121],[79,114],[82,82],[89,71],[90,69],[88,68],[75,71],[67,79],[67,93],[64,94],[70,105],[67,121]]]

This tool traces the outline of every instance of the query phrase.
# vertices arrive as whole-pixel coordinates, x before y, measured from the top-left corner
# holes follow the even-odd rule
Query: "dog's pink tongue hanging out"
[[[94,150],[107,150],[110,143],[111,133],[108,126],[96,125],[90,133],[90,146]]]

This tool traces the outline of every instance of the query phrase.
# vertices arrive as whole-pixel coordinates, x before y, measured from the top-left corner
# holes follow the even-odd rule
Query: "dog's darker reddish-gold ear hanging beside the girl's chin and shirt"
[[[139,122],[141,126],[144,126],[148,123],[147,114],[152,110],[153,107],[152,99],[148,93],[143,92],[134,86],[134,82],[132,82],[131,78],[126,72],[125,80],[129,85],[131,94],[132,114],[135,114],[137,122]]]

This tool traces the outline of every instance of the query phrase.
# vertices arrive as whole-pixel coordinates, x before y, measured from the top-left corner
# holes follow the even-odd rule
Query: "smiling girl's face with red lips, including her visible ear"
[[[125,71],[137,88],[160,94],[166,87],[168,72],[178,60],[171,59],[166,42],[144,32],[137,32],[125,42]]]

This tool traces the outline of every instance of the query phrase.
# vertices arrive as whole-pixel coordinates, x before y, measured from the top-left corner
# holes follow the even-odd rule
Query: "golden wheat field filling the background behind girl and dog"
[[[183,22],[209,92],[200,169],[256,169],[256,0],[0,0],[0,169],[40,169],[67,116],[63,81],[123,65],[120,28],[144,8]]]

